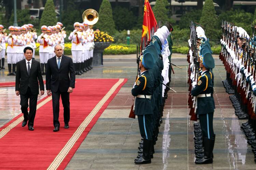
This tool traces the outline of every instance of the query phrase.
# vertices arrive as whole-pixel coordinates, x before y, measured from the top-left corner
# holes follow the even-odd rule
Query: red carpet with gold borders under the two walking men
[[[64,169],[75,151],[127,79],[76,80],[70,95],[70,128],[53,132],[51,97],[38,103],[34,131],[22,127],[23,114],[0,128],[0,169]],[[61,103],[61,102],[60,102]],[[11,129],[11,130],[10,130]]]

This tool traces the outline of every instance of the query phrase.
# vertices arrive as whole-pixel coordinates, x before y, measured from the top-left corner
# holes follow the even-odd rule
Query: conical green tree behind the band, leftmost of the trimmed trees
[[[56,13],[53,0],[47,0],[45,3],[44,11],[40,21],[40,26],[53,26],[56,25]]]

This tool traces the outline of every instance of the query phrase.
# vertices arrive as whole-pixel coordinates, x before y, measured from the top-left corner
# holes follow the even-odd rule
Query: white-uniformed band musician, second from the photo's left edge
[[[16,32],[14,32],[15,28],[14,26],[10,26],[9,28],[10,34],[5,37],[5,42],[8,43],[6,53],[7,53],[7,63],[8,63],[8,71],[9,73],[7,75],[16,75],[15,69],[16,69],[16,63],[17,63],[17,49],[16,44],[17,42],[17,36],[15,35]]]

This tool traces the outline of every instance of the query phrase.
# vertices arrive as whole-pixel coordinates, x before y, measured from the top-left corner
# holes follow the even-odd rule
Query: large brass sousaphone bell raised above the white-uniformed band
[[[82,15],[83,21],[88,23],[88,26],[91,28],[99,20],[99,14],[93,9],[85,10]]]

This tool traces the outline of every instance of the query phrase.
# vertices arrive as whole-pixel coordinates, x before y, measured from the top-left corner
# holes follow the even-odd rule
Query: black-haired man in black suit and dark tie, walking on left
[[[15,92],[17,96],[20,95],[20,105],[24,116],[22,126],[26,126],[28,121],[28,130],[33,131],[35,112],[37,110],[39,85],[40,95],[42,96],[44,94],[44,82],[40,63],[38,61],[31,60],[33,56],[33,49],[31,47],[25,47],[24,55],[26,59],[17,63]]]

